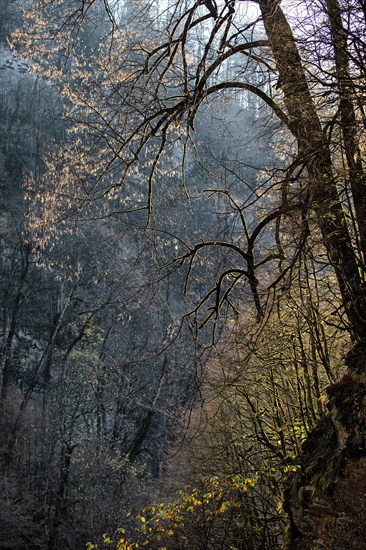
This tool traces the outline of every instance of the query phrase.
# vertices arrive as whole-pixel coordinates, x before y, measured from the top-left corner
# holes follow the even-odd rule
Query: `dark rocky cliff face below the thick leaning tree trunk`
[[[304,445],[286,495],[291,550],[366,549],[365,345],[349,353],[346,374],[328,388],[328,413]]]

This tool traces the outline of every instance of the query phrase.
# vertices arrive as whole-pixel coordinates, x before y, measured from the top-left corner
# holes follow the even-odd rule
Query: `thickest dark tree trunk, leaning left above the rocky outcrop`
[[[290,130],[307,167],[312,199],[329,261],[336,273],[353,337],[366,342],[366,296],[333,174],[332,159],[292,30],[277,0],[259,2]]]

